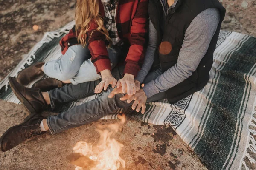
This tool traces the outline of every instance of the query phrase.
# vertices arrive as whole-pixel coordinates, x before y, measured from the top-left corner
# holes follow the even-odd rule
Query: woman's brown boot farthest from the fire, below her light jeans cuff
[[[19,82],[21,85],[28,85],[38,76],[44,74],[44,72],[41,70],[43,65],[44,62],[37,62],[34,65],[20,71],[20,73],[17,75],[17,82]]]

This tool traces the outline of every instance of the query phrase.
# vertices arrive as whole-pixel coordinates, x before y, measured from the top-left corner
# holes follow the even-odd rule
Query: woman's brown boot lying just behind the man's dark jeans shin
[[[31,88],[39,88],[41,91],[50,91],[54,88],[61,88],[63,86],[62,82],[49,78],[49,79],[42,79],[35,82],[35,84],[32,85]]]

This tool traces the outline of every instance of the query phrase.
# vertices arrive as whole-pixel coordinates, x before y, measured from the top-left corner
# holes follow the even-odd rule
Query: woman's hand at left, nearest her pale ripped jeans
[[[94,93],[101,93],[102,89],[107,90],[108,85],[112,85],[112,88],[116,86],[117,80],[112,76],[110,70],[103,70],[100,72],[102,75],[102,81],[94,89]]]

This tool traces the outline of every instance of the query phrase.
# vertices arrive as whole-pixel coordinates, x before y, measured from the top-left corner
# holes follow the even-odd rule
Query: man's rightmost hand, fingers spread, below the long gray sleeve
[[[134,100],[134,103],[131,106],[131,108],[133,110],[135,110],[135,108],[137,106],[137,108],[136,108],[137,112],[139,112],[140,108],[142,108],[141,113],[142,114],[145,113],[147,96],[142,88],[139,91],[137,91],[136,94],[134,94],[132,96],[129,96],[126,94],[125,96],[121,97],[120,100],[122,100],[122,101],[127,100],[127,103],[131,103]]]

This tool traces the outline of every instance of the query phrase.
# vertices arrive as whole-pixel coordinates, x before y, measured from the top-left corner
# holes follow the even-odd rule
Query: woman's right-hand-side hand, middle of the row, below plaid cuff
[[[116,83],[116,87],[120,88],[122,86],[122,93],[125,94],[125,88],[127,87],[127,94],[130,96],[136,93],[136,86],[134,82],[134,75],[125,74],[122,79],[119,79]]]

